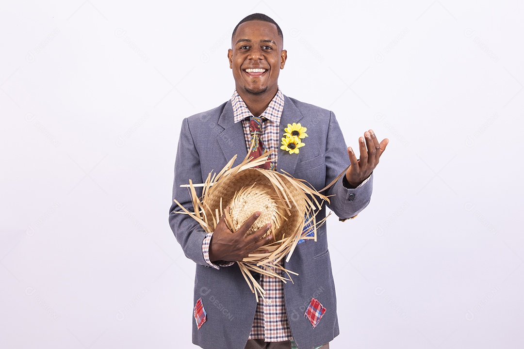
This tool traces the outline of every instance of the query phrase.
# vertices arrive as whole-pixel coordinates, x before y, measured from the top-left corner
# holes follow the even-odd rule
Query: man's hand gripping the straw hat
[[[260,212],[257,211],[253,213],[253,215],[251,215],[251,217],[249,217],[237,231],[232,232],[227,228],[225,216],[222,215],[219,223],[216,224],[215,231],[211,237],[209,245],[210,261],[242,261],[250,253],[258,249],[258,247],[271,241],[273,238],[271,234],[262,239],[269,228],[271,228],[270,223],[246,237],[246,232],[251,228],[258,217],[260,217]]]

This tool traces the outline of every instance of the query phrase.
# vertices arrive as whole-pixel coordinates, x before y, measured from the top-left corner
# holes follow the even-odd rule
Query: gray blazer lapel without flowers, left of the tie
[[[219,118],[219,125],[224,128],[219,134],[219,144],[227,161],[237,155],[234,165],[239,164],[247,156],[247,145],[242,122],[233,119],[231,100],[226,103]]]

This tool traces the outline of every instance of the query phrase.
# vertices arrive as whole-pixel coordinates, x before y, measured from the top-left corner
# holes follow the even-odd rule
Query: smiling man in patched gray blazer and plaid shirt
[[[236,90],[221,106],[183,120],[173,198],[192,209],[188,190],[180,185],[190,179],[203,183],[211,171],[220,170],[235,154],[237,164],[258,132],[259,150],[275,150],[270,156],[274,170],[305,179],[318,190],[351,163],[324,194],[334,195],[329,207],[341,219],[356,216],[369,202],[372,172],[388,140],[379,143],[373,130],[366,131],[359,138],[357,160],[354,151],[346,149],[332,112],[281,93],[278,76],[287,52],[282,31],[271,18],[254,14],[239,22],[227,57]],[[262,124],[258,131],[254,120]],[[305,145],[298,153],[289,152],[286,146],[281,149],[284,129],[293,122],[301,123],[308,134],[300,139]],[[329,348],[339,326],[325,225],[318,229],[316,242],[297,245],[285,264],[299,274],[293,276],[293,283],[255,275],[266,290],[265,300],[257,302],[234,261],[270,241],[270,236],[263,238],[269,224],[245,236],[259,212],[236,232],[229,231],[221,219],[215,231],[206,234],[179,211],[176,204],[171,206],[171,229],[184,254],[196,263],[194,344],[209,349]],[[325,205],[317,217],[325,217]]]

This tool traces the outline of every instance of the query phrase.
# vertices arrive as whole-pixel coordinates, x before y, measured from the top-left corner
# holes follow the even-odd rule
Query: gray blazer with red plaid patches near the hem
[[[285,96],[280,120],[280,134],[288,123],[300,122],[308,128],[305,146],[299,154],[278,150],[277,170],[302,178],[316,189],[339,175],[348,164],[346,143],[333,112]],[[234,123],[233,108],[228,101],[217,108],[185,118],[174,165],[173,198],[192,211],[187,188],[181,184],[203,183],[210,172],[220,171],[233,155],[236,164],[247,154],[242,122]],[[373,175],[372,175],[373,177]],[[342,178],[327,190],[329,208],[340,218],[350,218],[369,203],[373,178],[356,189],[343,186]],[[199,193],[201,194],[201,192]],[[318,219],[325,217],[325,205]],[[243,349],[255,316],[256,299],[236,264],[211,268],[202,255],[206,233],[187,215],[173,213],[179,207],[171,205],[169,223],[184,254],[196,263],[193,306],[202,298],[207,320],[197,329],[193,314],[193,343],[205,349]],[[298,273],[293,283],[285,284],[285,305],[294,341],[300,349],[310,349],[330,342],[339,334],[336,296],[325,224],[317,231],[317,241],[297,245],[286,268]],[[326,308],[324,316],[313,329],[304,312],[311,298]],[[189,317],[190,314],[188,314]]]

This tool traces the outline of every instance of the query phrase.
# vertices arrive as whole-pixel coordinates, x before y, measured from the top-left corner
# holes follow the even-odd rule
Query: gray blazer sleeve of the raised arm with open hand
[[[326,140],[325,161],[325,183],[328,185],[344,171],[349,163],[344,135],[332,111],[330,112],[328,138]],[[341,219],[353,218],[369,204],[373,192],[373,173],[367,182],[354,189],[344,187],[343,177],[341,176],[327,190],[326,195],[334,195],[329,198],[328,207]]]

